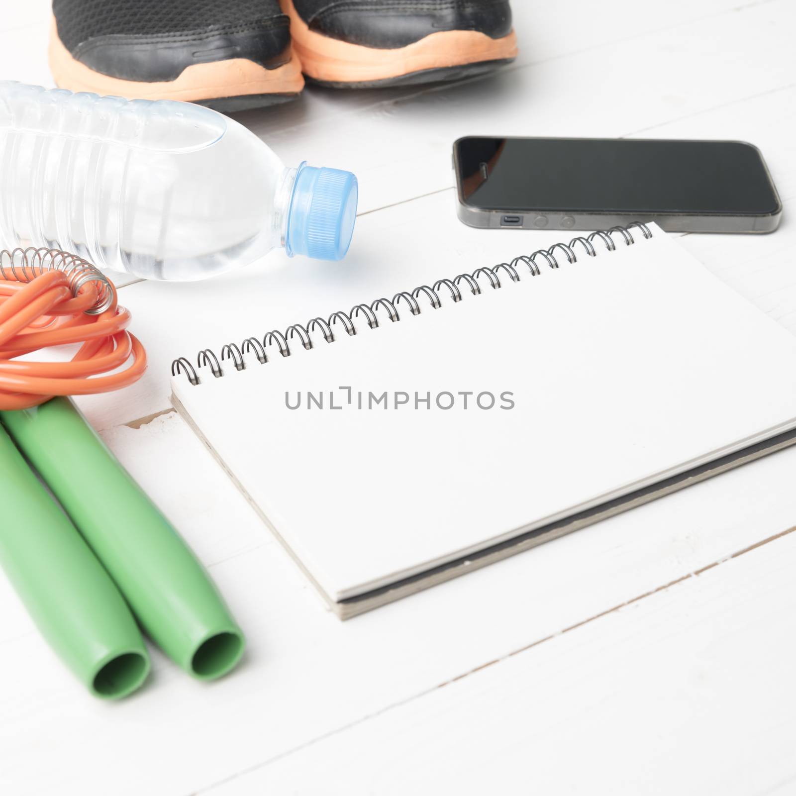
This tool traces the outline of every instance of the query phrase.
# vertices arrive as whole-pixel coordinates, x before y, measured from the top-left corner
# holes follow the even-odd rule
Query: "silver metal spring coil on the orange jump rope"
[[[69,289],[76,296],[88,283],[96,284],[97,300],[86,311],[88,315],[103,313],[114,301],[115,287],[99,268],[88,260],[52,248],[15,248],[0,251],[0,279],[31,282],[47,271],[63,271],[69,278]]]

